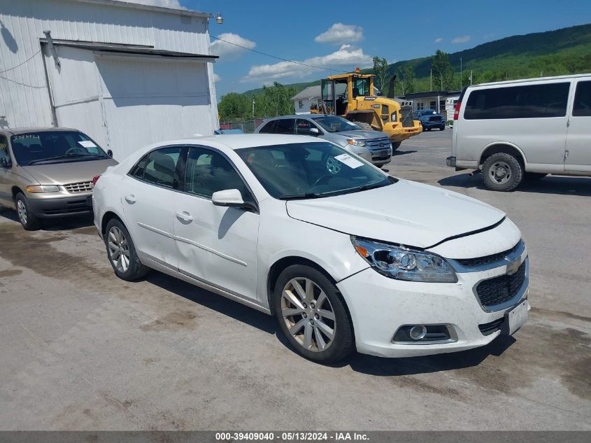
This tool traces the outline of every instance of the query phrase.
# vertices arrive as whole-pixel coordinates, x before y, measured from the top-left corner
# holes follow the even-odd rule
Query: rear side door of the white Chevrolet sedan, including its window
[[[173,201],[186,148],[152,150],[123,178],[127,229],[141,258],[177,269]]]

